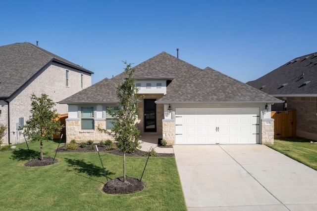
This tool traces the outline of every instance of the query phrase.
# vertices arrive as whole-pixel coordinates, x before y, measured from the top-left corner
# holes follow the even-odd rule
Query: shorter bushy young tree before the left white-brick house
[[[63,126],[56,121],[58,115],[53,109],[55,103],[47,94],[37,97],[31,95],[31,116],[24,126],[23,134],[31,141],[40,141],[41,160],[43,160],[43,140],[53,139],[53,134],[58,134]]]

